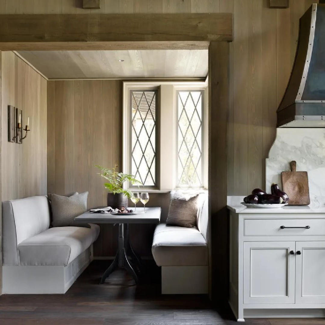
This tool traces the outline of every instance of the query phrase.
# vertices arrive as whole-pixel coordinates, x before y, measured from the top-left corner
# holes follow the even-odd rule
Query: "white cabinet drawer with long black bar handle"
[[[282,228],[281,228],[282,226]],[[283,228],[283,226],[285,228]],[[305,228],[309,226],[309,228]],[[287,228],[300,227],[300,228]],[[245,219],[244,236],[325,236],[325,219]]]

